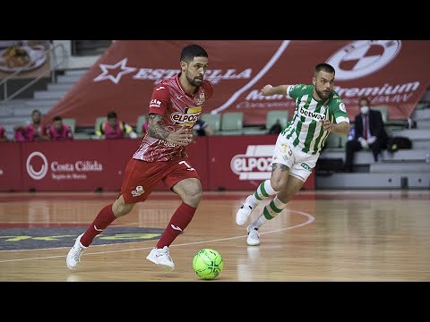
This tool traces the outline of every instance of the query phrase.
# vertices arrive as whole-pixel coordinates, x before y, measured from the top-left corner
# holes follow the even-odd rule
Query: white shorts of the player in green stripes
[[[312,174],[318,157],[320,157],[319,153],[312,155],[295,148],[285,136],[280,134],[276,140],[273,157],[271,157],[271,165],[275,163],[287,165],[289,174],[305,182]]]

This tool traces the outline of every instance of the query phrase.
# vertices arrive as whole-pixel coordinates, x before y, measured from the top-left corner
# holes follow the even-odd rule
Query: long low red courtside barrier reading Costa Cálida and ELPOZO
[[[254,190],[271,177],[276,135],[197,137],[190,165],[203,190]],[[140,140],[0,144],[0,191],[119,191]],[[314,174],[304,189],[314,189]],[[168,190],[160,183],[157,190]]]

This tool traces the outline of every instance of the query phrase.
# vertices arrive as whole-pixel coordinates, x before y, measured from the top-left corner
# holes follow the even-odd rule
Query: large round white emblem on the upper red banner
[[[390,64],[400,48],[400,40],[358,40],[340,48],[326,63],[336,70],[336,80],[357,80]]]

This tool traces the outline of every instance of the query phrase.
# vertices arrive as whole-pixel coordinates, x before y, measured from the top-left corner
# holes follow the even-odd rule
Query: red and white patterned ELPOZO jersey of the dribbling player
[[[206,100],[212,97],[213,88],[209,80],[193,96],[186,94],[179,81],[180,74],[163,80],[152,91],[149,114],[163,115],[167,131],[176,131],[185,123],[190,129],[199,119]],[[133,158],[146,162],[168,161],[174,158],[187,157],[186,146],[179,146],[166,140],[151,138],[146,132],[141,145]]]

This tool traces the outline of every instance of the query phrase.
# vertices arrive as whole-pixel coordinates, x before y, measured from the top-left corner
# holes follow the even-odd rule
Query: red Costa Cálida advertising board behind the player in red
[[[203,189],[208,187],[204,139],[197,138],[188,149],[191,164],[201,175]],[[8,157],[0,161],[4,168],[0,190],[119,191],[125,166],[139,144],[140,140],[128,139],[2,144],[2,155],[4,152]],[[15,177],[22,178],[19,185],[14,183]],[[166,189],[162,183],[158,187]]]

